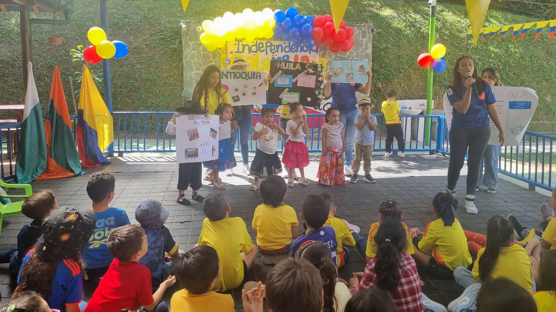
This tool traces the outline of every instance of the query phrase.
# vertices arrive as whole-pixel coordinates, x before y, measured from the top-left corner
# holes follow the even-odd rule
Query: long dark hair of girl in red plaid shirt
[[[387,218],[380,223],[375,235],[378,246],[375,256],[375,273],[378,278],[376,286],[393,292],[400,281],[401,253],[407,248],[404,226],[396,218]]]

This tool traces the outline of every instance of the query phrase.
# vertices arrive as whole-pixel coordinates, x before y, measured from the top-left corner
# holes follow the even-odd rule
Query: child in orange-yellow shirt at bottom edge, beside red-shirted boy
[[[184,289],[172,295],[172,309],[181,312],[234,312],[232,295],[212,290],[221,276],[218,253],[211,246],[200,245],[178,256],[176,279]]]

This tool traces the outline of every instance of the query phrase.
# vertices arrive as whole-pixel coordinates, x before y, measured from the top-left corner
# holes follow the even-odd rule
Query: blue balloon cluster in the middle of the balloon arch
[[[315,22],[312,16],[303,16],[297,12],[296,8],[289,7],[286,12],[280,9],[274,11],[274,21],[276,22],[272,28],[274,37],[282,37],[285,41],[291,40],[295,44],[303,44],[307,48],[312,48],[317,43],[316,39],[311,36],[314,32]]]

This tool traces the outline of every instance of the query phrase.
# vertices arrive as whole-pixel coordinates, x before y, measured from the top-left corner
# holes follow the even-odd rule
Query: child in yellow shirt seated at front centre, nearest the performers
[[[287,258],[293,241],[299,235],[299,222],[294,208],[284,204],[286,182],[278,175],[262,180],[262,204],[257,206],[252,227],[257,235],[257,246],[262,263],[276,264]]]

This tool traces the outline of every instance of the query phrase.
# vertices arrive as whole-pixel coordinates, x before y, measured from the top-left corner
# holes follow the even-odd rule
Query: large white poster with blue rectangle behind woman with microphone
[[[504,127],[506,142],[504,146],[519,145],[519,142],[527,130],[527,126],[533,118],[537,109],[539,97],[535,90],[525,87],[492,87],[496,98],[496,108],[500,115],[500,121]],[[444,93],[444,114],[446,114],[446,124],[448,129],[451,127],[453,107],[448,100],[448,94]],[[498,145],[498,129],[490,121],[490,140],[488,144]]]

